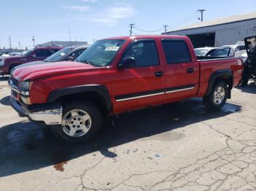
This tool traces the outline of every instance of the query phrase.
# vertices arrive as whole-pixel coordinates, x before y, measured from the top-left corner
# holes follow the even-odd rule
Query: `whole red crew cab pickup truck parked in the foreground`
[[[186,36],[122,36],[95,42],[75,62],[16,69],[10,103],[61,139],[82,141],[107,114],[195,97],[221,109],[242,71],[240,58],[197,61]]]

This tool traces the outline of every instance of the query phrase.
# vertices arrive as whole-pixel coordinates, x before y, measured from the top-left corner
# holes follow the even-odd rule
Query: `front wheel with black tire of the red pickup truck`
[[[53,128],[53,134],[69,143],[85,141],[99,130],[101,123],[102,114],[97,106],[86,101],[75,101],[64,106],[62,124]]]

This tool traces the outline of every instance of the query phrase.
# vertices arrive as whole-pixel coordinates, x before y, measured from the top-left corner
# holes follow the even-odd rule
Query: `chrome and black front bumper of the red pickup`
[[[35,122],[45,122],[46,125],[60,125],[62,119],[62,106],[60,104],[35,104],[26,105],[10,98],[10,104],[20,117],[29,117]]]

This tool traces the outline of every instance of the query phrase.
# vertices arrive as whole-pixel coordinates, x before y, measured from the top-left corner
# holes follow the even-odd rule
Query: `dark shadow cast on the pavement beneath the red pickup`
[[[142,109],[108,118],[93,139],[77,145],[57,141],[43,128],[24,120],[0,128],[0,177],[37,170],[53,165],[64,171],[63,165],[83,155],[116,157],[109,148],[137,139],[151,139],[167,132],[165,139],[176,141],[184,134],[176,128],[239,112],[241,106],[226,104],[218,112],[208,112],[199,98],[174,104]],[[148,138],[149,137],[149,138]],[[96,151],[99,151],[100,154]],[[92,152],[95,152],[92,154]]]

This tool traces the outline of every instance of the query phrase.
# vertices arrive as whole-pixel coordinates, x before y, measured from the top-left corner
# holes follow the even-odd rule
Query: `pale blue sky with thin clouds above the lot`
[[[32,47],[32,37],[40,44],[51,40],[88,41],[108,36],[160,34],[197,23],[206,9],[205,20],[256,11],[256,0],[8,0],[0,5],[0,47]],[[146,32],[151,31],[151,32]]]

